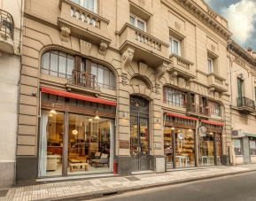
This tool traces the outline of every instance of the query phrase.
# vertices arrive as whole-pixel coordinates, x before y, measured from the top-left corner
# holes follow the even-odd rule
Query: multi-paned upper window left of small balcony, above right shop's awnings
[[[172,104],[178,107],[185,107],[185,92],[173,89],[169,87],[164,87],[164,104]]]

